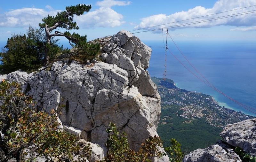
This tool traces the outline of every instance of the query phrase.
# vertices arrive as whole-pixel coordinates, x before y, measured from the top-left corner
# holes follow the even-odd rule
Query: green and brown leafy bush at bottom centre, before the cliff
[[[162,157],[164,154],[159,151],[158,147],[162,147],[163,143],[160,137],[150,137],[141,144],[139,151],[129,148],[128,140],[125,132],[117,130],[114,123],[109,123],[110,128],[107,129],[108,140],[105,145],[108,148],[107,157],[103,161],[106,162],[151,162],[151,158]]]

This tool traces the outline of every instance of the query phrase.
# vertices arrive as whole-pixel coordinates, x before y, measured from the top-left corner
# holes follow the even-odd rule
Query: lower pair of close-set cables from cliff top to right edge
[[[256,10],[247,11],[247,12],[255,13]],[[163,27],[163,28],[157,28],[157,29],[152,29],[152,30],[146,30],[146,31],[141,31],[141,32],[136,32],[136,33],[157,31],[157,30],[161,30],[161,29],[174,28],[174,27],[183,27],[183,26],[198,24],[198,23],[207,22],[207,21],[213,21],[213,20],[218,20],[218,19],[225,19],[225,18],[240,16],[240,15],[250,14],[250,13],[247,13],[247,12],[235,13],[235,14],[231,14],[231,15],[220,16],[220,17],[217,17],[217,18],[211,18],[211,19],[205,19],[205,20],[198,20],[198,21],[193,21],[193,22],[189,22],[189,23],[184,23],[184,24],[179,24],[179,25],[173,25],[173,26]],[[136,33],[132,33],[132,34],[136,34]]]

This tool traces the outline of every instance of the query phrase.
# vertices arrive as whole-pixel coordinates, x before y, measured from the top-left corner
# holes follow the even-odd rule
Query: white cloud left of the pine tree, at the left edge
[[[49,8],[49,7],[48,7]],[[47,12],[38,8],[21,8],[5,12],[0,15],[0,26],[4,27],[38,27],[39,23],[42,23],[42,19],[48,15],[55,16],[57,12]]]

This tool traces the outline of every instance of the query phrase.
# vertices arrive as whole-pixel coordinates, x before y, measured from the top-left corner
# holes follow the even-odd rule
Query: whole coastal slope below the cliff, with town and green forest
[[[161,96],[161,118],[157,133],[164,147],[175,138],[186,153],[206,148],[221,139],[227,124],[253,118],[241,112],[223,108],[210,95],[179,89],[174,81],[152,77]]]

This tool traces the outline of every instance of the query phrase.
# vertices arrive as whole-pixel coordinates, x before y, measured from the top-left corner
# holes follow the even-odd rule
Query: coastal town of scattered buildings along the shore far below
[[[156,82],[156,78],[152,77]],[[179,105],[179,111],[175,112],[188,119],[204,118],[210,125],[224,127],[227,124],[254,118],[243,112],[221,107],[210,95],[179,89],[172,80],[158,80],[158,92],[161,96],[161,107],[167,108]]]

